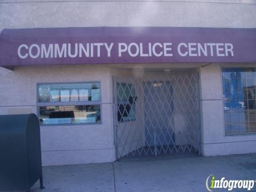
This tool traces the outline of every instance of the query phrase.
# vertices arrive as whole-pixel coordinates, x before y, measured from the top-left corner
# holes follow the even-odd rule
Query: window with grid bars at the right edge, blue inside
[[[256,68],[223,68],[226,135],[256,133]]]

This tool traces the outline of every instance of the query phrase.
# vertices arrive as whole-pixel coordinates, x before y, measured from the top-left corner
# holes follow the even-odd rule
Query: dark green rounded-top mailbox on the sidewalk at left
[[[41,140],[35,114],[0,115],[0,191],[43,189]]]

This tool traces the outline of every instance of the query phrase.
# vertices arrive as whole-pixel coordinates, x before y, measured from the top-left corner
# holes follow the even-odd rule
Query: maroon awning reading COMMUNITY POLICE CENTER
[[[0,36],[0,66],[173,62],[256,62],[256,29],[33,28]]]

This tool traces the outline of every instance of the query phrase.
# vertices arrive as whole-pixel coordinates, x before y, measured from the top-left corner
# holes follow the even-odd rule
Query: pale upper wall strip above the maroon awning
[[[94,26],[250,28],[256,27],[255,10],[256,3],[253,0],[1,0],[0,31],[4,28]]]

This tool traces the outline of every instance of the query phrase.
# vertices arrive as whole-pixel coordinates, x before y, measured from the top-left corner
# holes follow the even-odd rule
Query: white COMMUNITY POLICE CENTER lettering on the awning
[[[231,43],[179,43],[177,52],[181,57],[234,57]],[[165,43],[118,43],[116,53],[111,53],[114,43],[62,43],[21,44],[18,57],[26,58],[93,58],[111,57],[173,57],[173,44]]]

